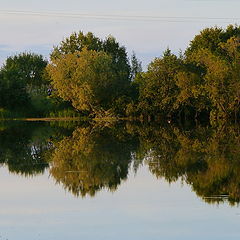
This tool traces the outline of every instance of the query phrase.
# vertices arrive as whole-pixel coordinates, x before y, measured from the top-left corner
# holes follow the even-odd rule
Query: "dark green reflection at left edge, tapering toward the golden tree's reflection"
[[[0,123],[0,164],[11,173],[26,177],[43,174],[56,141],[69,134],[68,129],[37,122]]]

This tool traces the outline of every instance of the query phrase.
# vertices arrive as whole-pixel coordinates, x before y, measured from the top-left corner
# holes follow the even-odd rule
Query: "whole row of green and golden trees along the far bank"
[[[167,49],[146,72],[115,38],[73,33],[47,62],[24,53],[0,71],[0,107],[38,116],[73,109],[81,116],[237,120],[240,27],[201,31],[184,53]],[[26,107],[28,106],[28,107]]]

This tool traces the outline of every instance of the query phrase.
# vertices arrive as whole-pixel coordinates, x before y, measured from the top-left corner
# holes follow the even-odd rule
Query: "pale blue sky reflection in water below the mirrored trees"
[[[1,239],[239,239],[239,213],[209,205],[180,182],[146,168],[114,193],[75,198],[49,174],[24,178],[0,170]]]

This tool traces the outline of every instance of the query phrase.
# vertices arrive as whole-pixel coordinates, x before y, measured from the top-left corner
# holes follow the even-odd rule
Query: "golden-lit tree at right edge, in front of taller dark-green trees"
[[[193,75],[188,75],[183,84],[183,75],[178,75],[178,83],[181,85],[180,97],[184,96],[184,92],[190,92],[188,97],[193,96],[195,101],[192,101],[195,107],[204,108],[202,103],[205,103],[205,108],[210,106],[212,119],[227,119],[239,108],[239,84],[240,84],[240,52],[239,39],[230,38],[227,42],[219,44],[219,49],[222,54],[202,48],[191,54],[191,62],[201,69],[195,78]],[[224,55],[223,55],[224,53]],[[186,79],[186,78],[185,78]],[[191,86],[187,83],[191,82]],[[186,94],[185,94],[186,96]],[[204,101],[197,101],[196,100]],[[209,104],[207,104],[209,102]]]

